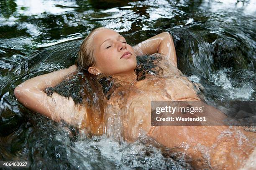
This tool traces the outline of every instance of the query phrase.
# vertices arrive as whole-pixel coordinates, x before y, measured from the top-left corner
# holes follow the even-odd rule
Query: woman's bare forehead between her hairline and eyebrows
[[[115,36],[120,35],[118,32],[110,29],[103,29],[96,32],[93,40],[94,42],[102,43],[103,41],[107,40],[108,38],[112,38]]]

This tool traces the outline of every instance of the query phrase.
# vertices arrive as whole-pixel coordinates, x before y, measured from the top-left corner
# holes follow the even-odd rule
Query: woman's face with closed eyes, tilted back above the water
[[[96,57],[94,74],[100,72],[106,75],[122,75],[136,68],[133,48],[118,32],[110,29],[100,30],[95,34],[93,44]]]

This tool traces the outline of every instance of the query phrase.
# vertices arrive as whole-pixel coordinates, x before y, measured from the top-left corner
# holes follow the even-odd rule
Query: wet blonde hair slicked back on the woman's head
[[[80,49],[78,52],[78,66],[79,66],[79,70],[87,70],[88,68],[91,66],[95,65],[95,56],[94,56],[94,46],[93,46],[93,38],[95,36],[95,34],[99,31],[99,30],[103,30],[106,29],[105,27],[99,27],[96,28],[94,30],[92,30],[92,32],[90,32],[83,40],[82,44],[80,45]]]

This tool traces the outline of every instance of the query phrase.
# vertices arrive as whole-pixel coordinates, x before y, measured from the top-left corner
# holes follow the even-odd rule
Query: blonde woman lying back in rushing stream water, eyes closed
[[[154,53],[161,55],[152,57]],[[154,59],[151,70],[141,71],[137,66],[136,56],[140,55]],[[92,121],[94,113],[88,105],[75,104],[71,97],[55,92],[51,97],[46,95],[46,87],[56,86],[66,75],[77,71],[76,65],[23,82],[15,88],[15,96],[29,109],[77,125],[87,133],[105,133],[127,141],[145,133],[167,147],[187,153],[194,160],[192,164],[202,169],[241,168],[253,152],[254,134],[239,128],[151,126],[151,101],[200,101],[198,86],[177,68],[174,42],[168,32],[131,47],[118,32],[97,28],[82,42],[78,62],[80,71],[114,80],[114,90],[106,92],[108,96],[102,99],[103,116],[95,116]]]

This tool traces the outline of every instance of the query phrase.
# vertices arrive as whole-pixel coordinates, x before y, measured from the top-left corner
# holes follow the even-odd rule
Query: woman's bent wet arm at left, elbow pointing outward
[[[79,115],[73,99],[61,96],[56,92],[49,97],[46,95],[45,89],[56,86],[66,75],[76,70],[77,66],[72,65],[67,69],[33,77],[18,85],[14,94],[18,101],[29,109],[55,121],[62,119],[74,124]]]

